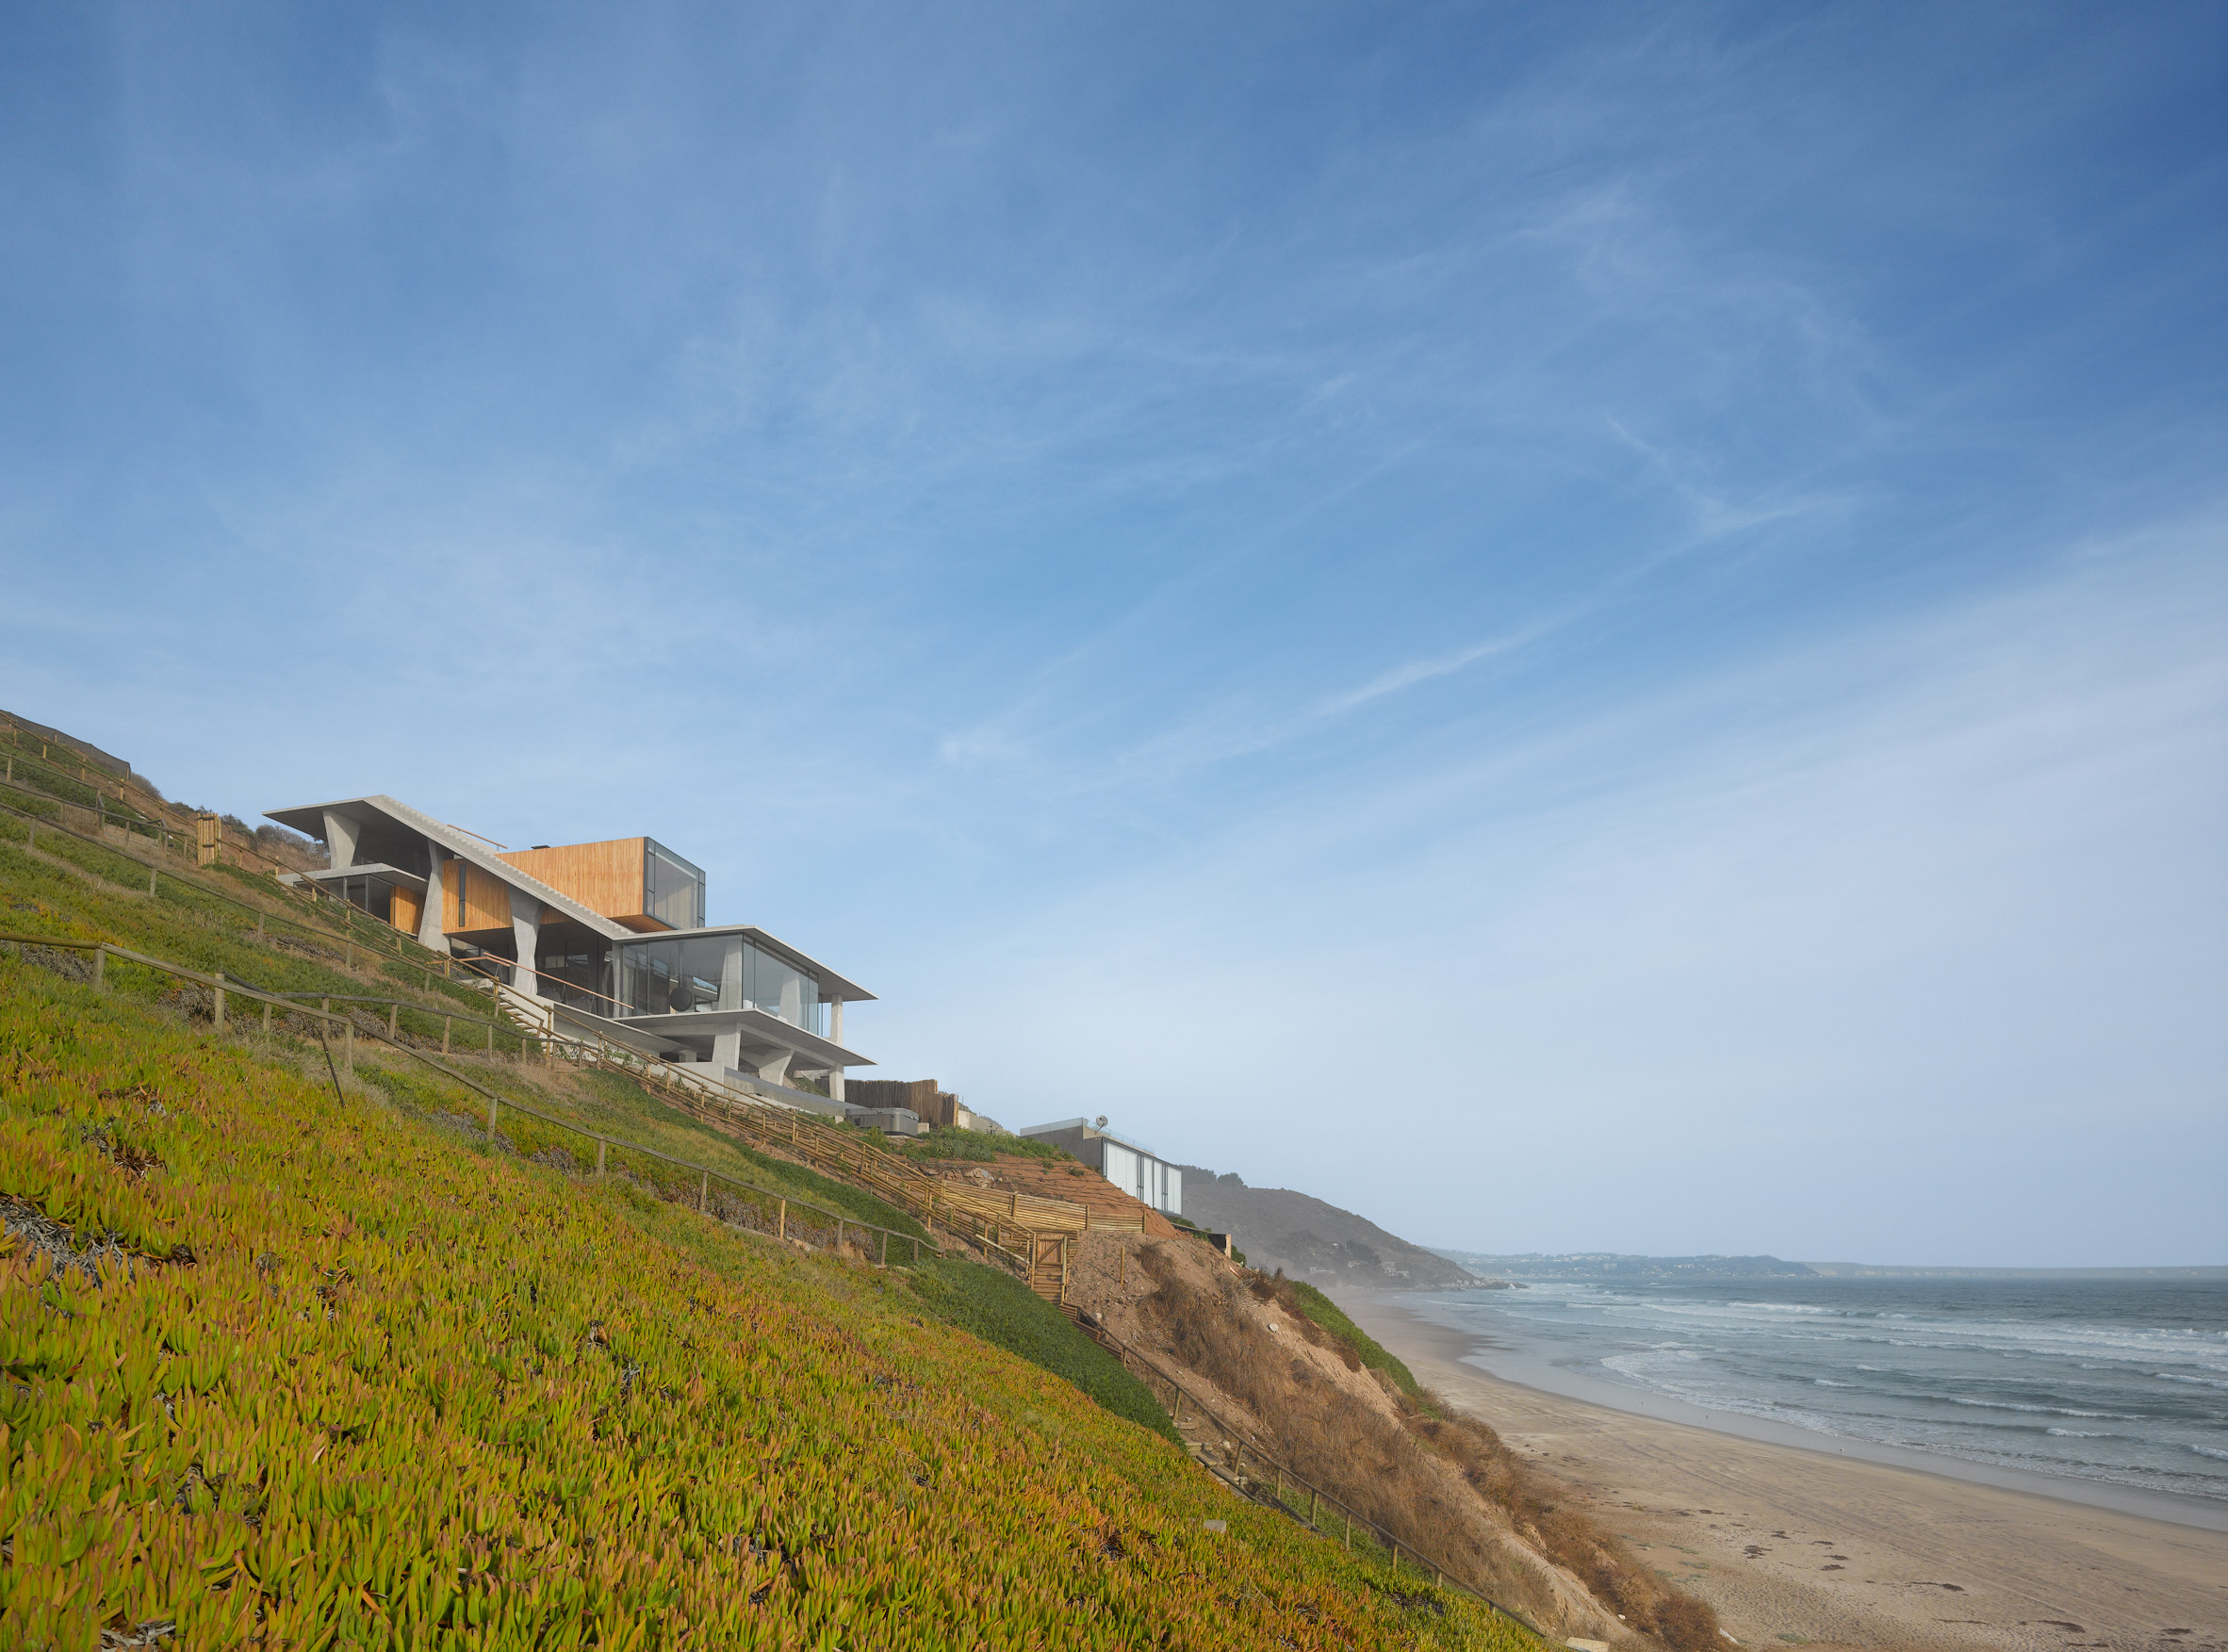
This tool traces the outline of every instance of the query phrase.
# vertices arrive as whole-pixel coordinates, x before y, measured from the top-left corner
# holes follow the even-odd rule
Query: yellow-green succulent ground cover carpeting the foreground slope
[[[7,842],[0,899],[285,962]],[[940,1280],[334,1095],[163,989],[0,955],[4,1645],[1535,1645],[938,1322]]]

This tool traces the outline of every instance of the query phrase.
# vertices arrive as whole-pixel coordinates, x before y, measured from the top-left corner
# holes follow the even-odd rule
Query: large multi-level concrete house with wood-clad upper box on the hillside
[[[842,1009],[873,993],[762,928],[706,926],[702,868],[655,837],[504,848],[377,795],[270,819],[325,844],[314,882],[553,1017],[773,1100],[858,1111],[844,1069],[873,1062],[844,1049]]]

